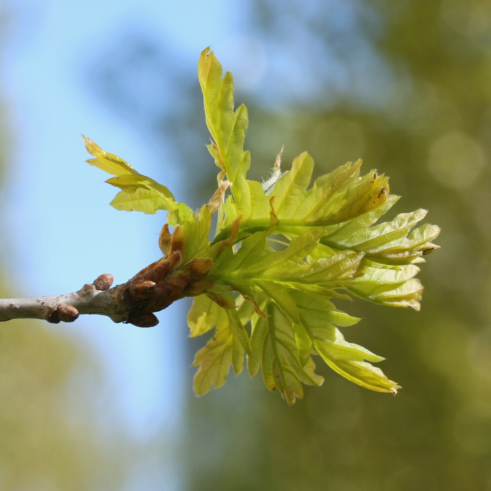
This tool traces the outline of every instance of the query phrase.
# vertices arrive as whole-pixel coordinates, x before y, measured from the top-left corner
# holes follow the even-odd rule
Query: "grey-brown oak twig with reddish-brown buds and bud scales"
[[[73,322],[81,314],[97,314],[117,323],[153,327],[159,323],[154,312],[175,300],[199,295],[213,283],[206,279],[211,266],[210,258],[194,258],[182,266],[182,253],[174,248],[126,283],[113,288],[112,274],[101,274],[77,292],[0,300],[0,321],[44,319],[56,324]]]

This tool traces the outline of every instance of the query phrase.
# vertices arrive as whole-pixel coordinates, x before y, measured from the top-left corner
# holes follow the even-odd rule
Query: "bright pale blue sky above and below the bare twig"
[[[149,175],[157,147],[87,90],[84,70],[116,34],[136,26],[165,43],[192,73],[203,48],[219,49],[236,35],[234,18],[241,12],[232,4],[7,2],[10,22],[1,83],[10,153],[1,201],[9,236],[7,274],[22,278],[15,281],[17,295],[78,290],[101,273],[112,273],[121,283],[159,257],[157,237],[165,215],[109,207],[115,190],[103,182],[108,176],[84,163],[88,155],[81,133]],[[164,184],[179,193],[182,179],[173,170]],[[99,355],[107,381],[101,420],[106,428],[124,428],[142,444],[163,429],[178,438],[184,391],[191,391],[182,374],[185,315],[183,306],[173,305],[153,329],[98,317],[52,327],[81,339]],[[165,476],[168,489],[180,487],[175,472],[168,470]],[[149,475],[146,469],[140,477]],[[136,476],[134,489],[142,489],[141,479]]]

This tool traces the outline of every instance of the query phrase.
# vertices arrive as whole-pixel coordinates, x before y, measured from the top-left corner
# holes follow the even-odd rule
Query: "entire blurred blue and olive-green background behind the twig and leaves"
[[[3,297],[120,283],[159,256],[164,215],[110,208],[81,133],[208,199],[208,45],[249,108],[252,177],[282,145],[318,174],[361,157],[395,212],[442,228],[421,312],[342,306],[395,398],[321,363],[291,408],[246,373],[195,398],[186,301],[152,329],[1,325],[1,491],[491,490],[489,1],[3,0],[0,32]]]

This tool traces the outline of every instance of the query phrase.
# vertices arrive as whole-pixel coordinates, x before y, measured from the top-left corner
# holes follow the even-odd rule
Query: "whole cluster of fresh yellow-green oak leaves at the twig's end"
[[[251,376],[261,369],[267,387],[293,404],[303,396],[302,384],[322,384],[312,358],[319,355],[352,382],[396,393],[399,386],[372,365],[383,358],[345,341],[339,327],[359,319],[332,300],[351,294],[418,310],[422,285],[416,264],[437,248],[432,241],[438,227],[415,228],[425,210],[379,223],[398,197],[389,194],[383,174],[360,175],[360,161],[319,177],[309,188],[312,158],[302,153],[281,173],[278,155],[267,182],[248,180],[247,109],[234,110],[233,77],[223,76],[209,49],[200,56],[198,77],[212,137],[208,150],[219,173],[216,193],[196,212],[85,138],[94,156],[87,162],[115,176],[107,181],[120,189],[112,206],[167,210],[174,234],[184,240],[182,264],[212,261],[206,286],[191,293],[188,315],[192,337],[214,331],[194,358],[195,392],[220,387],[230,367],[238,375],[246,362]],[[214,213],[217,228],[210,237]],[[164,254],[169,237],[164,226]]]

